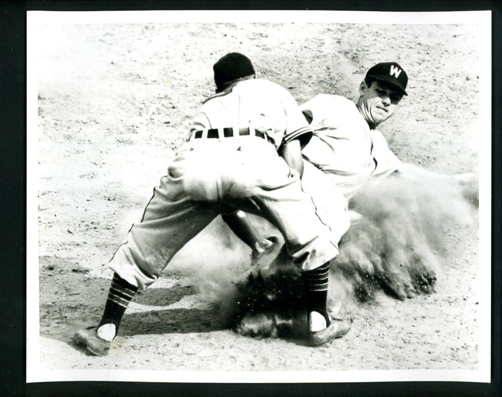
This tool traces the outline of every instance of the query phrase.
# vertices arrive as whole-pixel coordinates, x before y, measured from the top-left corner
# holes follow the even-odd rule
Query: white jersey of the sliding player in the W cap
[[[401,161],[382,133],[370,129],[356,105],[347,98],[319,94],[300,106],[312,118],[314,136],[302,153],[351,197],[370,176],[396,171]]]

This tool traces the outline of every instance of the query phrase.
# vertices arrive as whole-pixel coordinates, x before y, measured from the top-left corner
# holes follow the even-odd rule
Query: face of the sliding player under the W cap
[[[403,97],[398,89],[379,81],[373,81],[369,87],[362,82],[359,95],[359,110],[371,124],[380,124],[391,117]]]

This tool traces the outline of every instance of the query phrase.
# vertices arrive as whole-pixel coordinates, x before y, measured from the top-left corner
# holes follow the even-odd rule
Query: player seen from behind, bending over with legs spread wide
[[[310,343],[345,335],[350,323],[326,311],[329,261],[338,254],[330,219],[302,190],[301,148],[312,131],[283,87],[256,78],[248,58],[229,53],[214,66],[216,94],[200,108],[191,137],[133,224],[109,266],[114,271],[101,321],[74,339],[96,355],[109,353],[120,320],[139,288],[157,280],[171,258],[217,215],[239,223],[235,211],[260,215],[284,235],[301,267]]]

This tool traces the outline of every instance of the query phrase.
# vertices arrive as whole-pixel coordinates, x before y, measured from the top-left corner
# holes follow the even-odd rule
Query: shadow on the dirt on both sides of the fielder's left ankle
[[[40,258],[40,335],[72,343],[75,331],[97,325],[110,280],[90,276],[88,270],[63,258]],[[195,289],[181,281],[171,288],[151,288],[133,302],[145,306],[170,306]],[[138,310],[138,306],[136,306]],[[120,335],[210,332],[222,329],[213,310],[166,308],[124,315]]]

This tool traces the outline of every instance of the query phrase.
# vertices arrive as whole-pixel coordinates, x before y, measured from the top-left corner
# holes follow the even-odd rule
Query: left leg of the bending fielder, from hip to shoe
[[[194,199],[186,189],[185,163],[184,156],[178,155],[170,165],[169,175],[154,189],[141,222],[133,224],[127,240],[110,260],[109,266],[115,273],[98,326],[73,336],[93,354],[108,354],[110,342],[138,288],[152,284],[172,257],[220,213],[216,202]],[[212,185],[214,181],[207,182],[203,191],[214,191]]]

